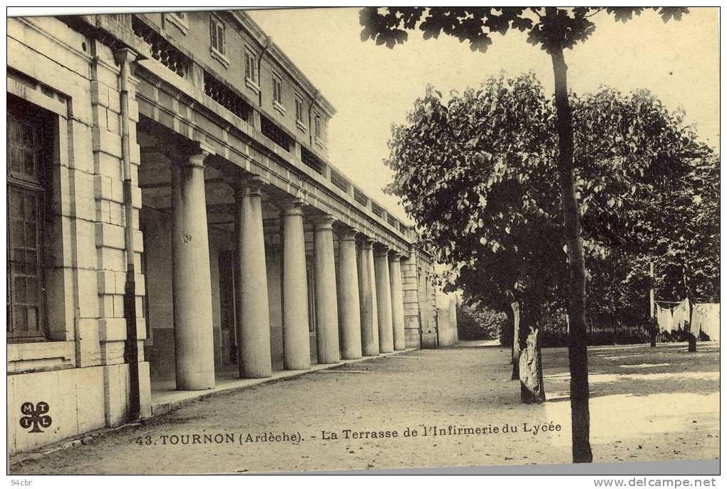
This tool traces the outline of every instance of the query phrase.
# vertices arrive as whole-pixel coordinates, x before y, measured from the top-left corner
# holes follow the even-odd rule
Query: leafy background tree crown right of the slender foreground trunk
[[[649,262],[662,299],[710,302],[719,278],[719,166],[710,147],[681,110],[646,90],[572,98],[590,317],[643,323]]]

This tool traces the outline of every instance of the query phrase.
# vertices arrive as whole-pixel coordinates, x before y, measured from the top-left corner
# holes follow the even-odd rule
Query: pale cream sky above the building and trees
[[[553,92],[550,57],[526,43],[526,35],[494,34],[486,53],[441,35],[424,41],[420,31],[394,49],[362,42],[358,9],[249,11],[260,27],[337,109],[329,124],[329,160],[393,215],[405,219],[398,198],[382,187],[393,172],[388,155],[392,124],[402,124],[427,84],[443,94],[478,86],[504,71],[533,70]],[[686,110],[704,142],[719,144],[718,9],[691,8],[680,22],[664,24],[656,12],[616,23],[601,12],[585,44],[566,52],[569,85],[585,93],[610,85],[622,92],[650,89],[664,105]]]

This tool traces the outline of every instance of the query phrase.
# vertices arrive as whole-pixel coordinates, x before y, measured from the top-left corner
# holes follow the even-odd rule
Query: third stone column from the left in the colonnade
[[[286,370],[310,368],[308,278],[305,273],[305,235],[302,201],[283,210],[283,349]]]

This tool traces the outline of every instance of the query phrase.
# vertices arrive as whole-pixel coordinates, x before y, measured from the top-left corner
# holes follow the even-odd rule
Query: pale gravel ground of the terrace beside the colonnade
[[[310,373],[209,397],[145,426],[12,464],[11,472],[180,474],[568,463],[566,349],[543,350],[547,403],[542,405],[520,403],[519,385],[510,381],[509,355],[510,349],[462,343]],[[589,357],[594,461],[719,457],[718,344],[700,343],[696,353],[687,353],[686,344],[594,347]],[[543,425],[549,429],[536,433],[534,427]],[[443,434],[434,435],[432,427]],[[481,434],[458,434],[457,429]],[[283,440],[265,441],[263,435],[270,432]]]

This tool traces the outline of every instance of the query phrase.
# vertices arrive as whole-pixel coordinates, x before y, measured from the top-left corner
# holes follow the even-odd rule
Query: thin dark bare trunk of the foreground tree
[[[571,421],[573,461],[591,462],[588,412],[588,354],[586,350],[585,322],[585,259],[578,216],[578,203],[573,176],[573,117],[568,100],[566,60],[561,46],[550,53],[555,74],[555,110],[558,129],[558,180],[561,185],[563,225],[568,246],[570,270],[569,318],[570,344],[569,368],[571,371]]]

